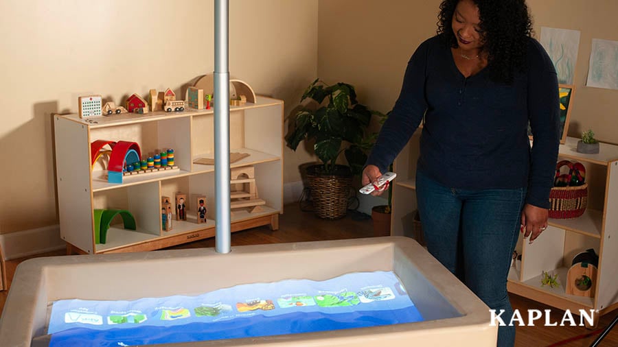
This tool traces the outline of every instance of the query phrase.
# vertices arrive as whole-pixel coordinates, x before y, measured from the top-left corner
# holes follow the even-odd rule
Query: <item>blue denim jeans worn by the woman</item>
[[[507,276],[526,189],[454,189],[417,171],[416,194],[428,251],[490,309],[504,309],[508,324]],[[500,326],[498,346],[514,343],[515,327]]]

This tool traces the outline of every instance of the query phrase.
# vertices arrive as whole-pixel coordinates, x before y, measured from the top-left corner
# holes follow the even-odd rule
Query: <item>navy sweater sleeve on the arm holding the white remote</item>
[[[376,165],[382,173],[388,171],[389,165],[408,143],[427,108],[425,100],[427,55],[428,41],[425,41],[408,62],[400,95],[382,125],[376,144],[367,158],[365,165]]]

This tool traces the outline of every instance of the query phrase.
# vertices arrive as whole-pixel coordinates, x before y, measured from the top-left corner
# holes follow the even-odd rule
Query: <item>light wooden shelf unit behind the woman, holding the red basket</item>
[[[397,178],[393,185],[391,235],[413,235],[420,132],[413,134],[393,163]],[[575,219],[550,219],[547,230],[532,244],[520,237],[516,250],[522,254],[522,262],[519,271],[511,268],[507,286],[514,294],[574,314],[580,309],[604,314],[618,308],[618,145],[602,143],[599,154],[580,154],[576,151],[578,140],[567,137],[566,143],[560,145],[559,160],[574,160],[586,167],[588,207]],[[599,254],[595,295],[568,295],[567,271],[573,257],[588,248]],[[560,286],[542,285],[543,271],[558,274]],[[598,317],[595,315],[595,322]]]

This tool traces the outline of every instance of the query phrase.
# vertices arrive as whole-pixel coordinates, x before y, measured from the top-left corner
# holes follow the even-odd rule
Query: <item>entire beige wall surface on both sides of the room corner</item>
[[[407,60],[435,33],[439,0],[230,1],[230,72],[286,102],[286,115],[319,76],[354,84],[363,103],[386,112]],[[131,93],[180,91],[214,69],[213,1],[0,3],[0,234],[57,223],[51,115],[76,112],[78,95],[119,102]],[[565,5],[567,3],[567,5]],[[582,32],[571,136],[593,128],[618,143],[618,91],[584,86],[592,38],[618,40],[615,0],[529,0],[541,26]],[[84,13],[91,14],[84,14]],[[163,43],[173,45],[163,45]],[[170,48],[171,47],[171,48]],[[614,101],[611,103],[610,101]],[[313,160],[285,149],[285,182]]]

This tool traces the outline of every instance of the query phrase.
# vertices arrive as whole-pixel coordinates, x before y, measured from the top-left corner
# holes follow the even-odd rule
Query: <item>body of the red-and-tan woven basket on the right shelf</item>
[[[586,211],[588,204],[588,184],[577,187],[553,187],[549,192],[549,217],[554,219],[573,219]]]

